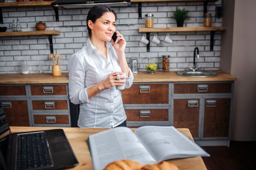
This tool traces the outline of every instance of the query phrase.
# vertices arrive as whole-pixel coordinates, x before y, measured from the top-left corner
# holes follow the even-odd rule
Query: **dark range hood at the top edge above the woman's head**
[[[131,5],[130,0],[56,0],[52,2],[52,6],[63,8],[90,8],[98,4],[109,7],[127,7]]]

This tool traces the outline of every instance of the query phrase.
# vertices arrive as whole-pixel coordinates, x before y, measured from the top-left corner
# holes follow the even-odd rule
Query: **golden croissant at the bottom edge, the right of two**
[[[179,168],[173,163],[162,161],[156,164],[146,165],[141,170],[179,170]]]

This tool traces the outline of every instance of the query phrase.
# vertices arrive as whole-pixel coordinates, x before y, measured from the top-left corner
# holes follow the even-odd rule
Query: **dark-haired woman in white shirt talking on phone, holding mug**
[[[115,29],[116,20],[110,7],[92,7],[86,20],[86,45],[69,59],[69,95],[73,104],[80,104],[79,127],[126,126],[121,91],[115,86],[130,88],[134,77],[126,62],[126,41]],[[119,36],[117,44],[111,39],[115,31]],[[121,76],[123,73],[126,77]]]

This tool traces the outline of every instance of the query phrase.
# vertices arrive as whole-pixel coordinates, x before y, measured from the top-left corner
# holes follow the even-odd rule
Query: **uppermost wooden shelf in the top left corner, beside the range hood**
[[[35,1],[35,2],[4,2],[0,3],[0,8],[12,7],[36,7],[36,6],[51,6],[53,1]]]

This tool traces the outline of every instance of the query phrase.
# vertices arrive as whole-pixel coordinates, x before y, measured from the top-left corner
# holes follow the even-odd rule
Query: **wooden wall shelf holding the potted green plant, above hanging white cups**
[[[179,32],[179,31],[223,31],[227,26],[170,27],[170,28],[139,28],[140,33],[148,32]]]

